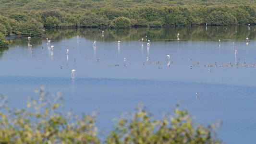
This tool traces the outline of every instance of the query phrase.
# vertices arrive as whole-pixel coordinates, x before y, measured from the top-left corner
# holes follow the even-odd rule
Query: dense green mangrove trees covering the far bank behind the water
[[[1,0],[0,33],[35,36],[43,34],[44,27],[256,24],[255,4],[254,0]]]

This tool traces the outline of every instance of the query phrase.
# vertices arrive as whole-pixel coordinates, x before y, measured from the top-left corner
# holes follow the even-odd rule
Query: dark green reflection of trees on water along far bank
[[[163,27],[163,28],[123,28],[123,29],[100,29],[100,28],[75,28],[75,29],[47,29],[42,37],[31,38],[31,44],[41,44],[46,42],[46,37],[54,42],[59,42],[63,38],[72,38],[75,36],[84,37],[92,41],[138,41],[140,38],[149,38],[151,40],[170,40],[177,39],[180,33],[180,39],[186,41],[197,41],[207,39],[256,39],[256,26],[192,26],[192,27]],[[102,36],[104,31],[104,36]],[[147,37],[146,37],[147,36]],[[27,37],[12,39],[12,45],[24,45]]]

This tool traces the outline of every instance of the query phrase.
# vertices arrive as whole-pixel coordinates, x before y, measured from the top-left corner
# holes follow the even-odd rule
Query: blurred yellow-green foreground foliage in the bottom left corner
[[[49,96],[44,87],[35,90],[38,99],[31,98],[27,109],[10,109],[0,106],[1,144],[97,144],[95,115],[77,116],[57,109],[61,96]],[[1,96],[3,102],[5,97]]]

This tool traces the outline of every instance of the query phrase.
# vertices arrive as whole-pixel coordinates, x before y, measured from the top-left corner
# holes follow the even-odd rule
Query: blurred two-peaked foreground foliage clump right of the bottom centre
[[[107,137],[108,144],[219,144],[214,125],[195,124],[186,110],[174,109],[174,115],[152,120],[143,105],[135,114],[121,118]]]

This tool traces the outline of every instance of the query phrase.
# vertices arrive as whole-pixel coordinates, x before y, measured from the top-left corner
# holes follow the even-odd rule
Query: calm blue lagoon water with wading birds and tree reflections
[[[113,118],[138,102],[156,118],[181,103],[200,123],[221,120],[218,136],[225,143],[255,142],[256,27],[48,29],[31,38],[31,48],[27,37],[9,39],[10,48],[0,49],[0,93],[13,107],[24,107],[44,84],[62,92],[66,109],[98,111],[104,135]]]

